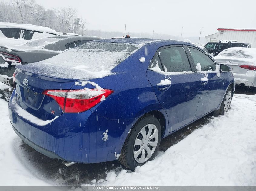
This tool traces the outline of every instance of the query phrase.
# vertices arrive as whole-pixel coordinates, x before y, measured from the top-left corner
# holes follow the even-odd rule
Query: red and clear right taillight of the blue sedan
[[[85,88],[82,90],[45,90],[42,94],[52,97],[64,113],[79,113],[94,107],[113,92],[107,89]]]

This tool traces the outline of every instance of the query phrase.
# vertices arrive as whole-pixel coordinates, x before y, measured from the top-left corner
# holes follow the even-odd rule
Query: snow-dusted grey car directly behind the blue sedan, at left
[[[33,40],[17,46],[0,46],[0,82],[12,85],[16,65],[42,61],[66,49],[99,38],[84,36],[55,36]]]

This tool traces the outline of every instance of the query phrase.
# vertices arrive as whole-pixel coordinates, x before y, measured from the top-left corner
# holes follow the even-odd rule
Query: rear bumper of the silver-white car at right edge
[[[245,74],[233,73],[233,75],[237,85],[245,84],[245,86],[256,87],[256,71],[248,71]]]

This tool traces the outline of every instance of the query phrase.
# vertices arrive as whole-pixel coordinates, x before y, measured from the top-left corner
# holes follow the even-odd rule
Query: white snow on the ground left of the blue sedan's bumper
[[[48,181],[41,180],[43,177],[38,175],[38,169],[35,169],[29,161],[24,160],[20,154],[21,139],[12,129],[8,117],[8,102],[0,99],[0,179],[1,186],[49,186]],[[49,180],[50,181],[50,180]]]

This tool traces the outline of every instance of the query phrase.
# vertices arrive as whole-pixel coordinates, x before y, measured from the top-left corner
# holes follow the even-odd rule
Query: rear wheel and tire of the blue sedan
[[[137,166],[142,166],[155,157],[160,141],[161,125],[158,119],[145,115],[138,119],[129,132],[118,161],[134,170]]]

